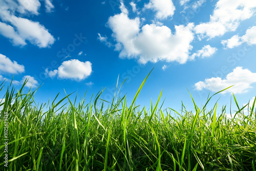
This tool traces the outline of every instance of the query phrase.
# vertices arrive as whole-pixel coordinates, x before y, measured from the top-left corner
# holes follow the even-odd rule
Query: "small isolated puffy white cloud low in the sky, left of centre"
[[[74,79],[77,81],[83,80],[92,73],[92,63],[90,61],[81,62],[77,59],[63,61],[57,70],[49,71],[46,69],[45,74],[50,77],[61,79]]]

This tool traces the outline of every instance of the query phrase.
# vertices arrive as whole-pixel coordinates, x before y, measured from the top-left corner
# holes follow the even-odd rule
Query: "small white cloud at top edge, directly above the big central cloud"
[[[148,4],[144,5],[145,9],[152,9],[156,11],[156,18],[166,19],[174,15],[175,6],[172,0],[150,0]]]

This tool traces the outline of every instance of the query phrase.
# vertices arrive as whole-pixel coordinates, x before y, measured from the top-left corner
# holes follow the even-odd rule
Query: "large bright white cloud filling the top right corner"
[[[221,36],[227,31],[234,31],[240,22],[255,14],[256,1],[219,0],[208,23],[195,27],[199,38]]]

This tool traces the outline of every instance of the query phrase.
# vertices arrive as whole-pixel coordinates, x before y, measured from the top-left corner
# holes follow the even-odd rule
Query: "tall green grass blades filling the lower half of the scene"
[[[146,110],[135,104],[145,81],[131,105],[118,93],[106,102],[102,91],[89,103],[72,102],[70,95],[57,102],[58,94],[39,105],[33,100],[36,91],[24,93],[24,84],[15,93],[10,84],[0,102],[0,170],[255,170],[253,108],[244,114],[248,105],[240,109],[233,96],[238,105],[233,119],[226,117],[226,106],[219,114],[217,103],[207,110],[211,97],[201,108],[191,97],[195,114],[183,104],[181,112],[163,110],[160,94]],[[4,112],[9,114],[8,168]]]

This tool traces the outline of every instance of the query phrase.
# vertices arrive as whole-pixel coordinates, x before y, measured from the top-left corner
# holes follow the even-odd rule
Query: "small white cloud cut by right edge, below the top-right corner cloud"
[[[229,49],[238,47],[244,42],[246,42],[248,45],[256,45],[256,26],[247,29],[245,35],[241,37],[234,35],[230,39],[221,41],[224,48]]]

